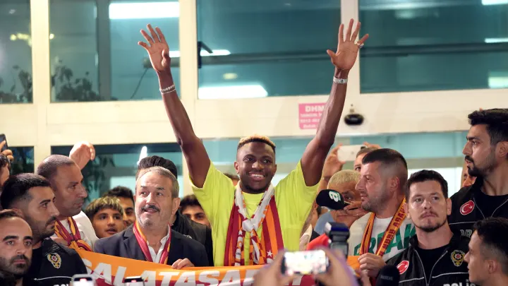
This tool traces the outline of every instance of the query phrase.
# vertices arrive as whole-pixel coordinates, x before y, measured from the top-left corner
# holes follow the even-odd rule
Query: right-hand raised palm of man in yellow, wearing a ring
[[[353,67],[356,57],[358,56],[358,50],[368,38],[368,34],[364,35],[355,43],[358,32],[360,32],[361,24],[358,22],[356,24],[356,29],[352,32],[353,23],[353,19],[349,20],[346,38],[344,38],[344,24],[340,25],[337,52],[333,52],[331,49],[327,50],[327,54],[337,70],[349,70]]]

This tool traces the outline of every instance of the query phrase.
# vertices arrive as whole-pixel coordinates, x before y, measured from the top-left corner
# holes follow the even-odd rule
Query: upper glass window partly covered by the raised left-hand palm
[[[50,1],[52,102],[158,100],[159,82],[137,42],[159,26],[175,57],[178,1]],[[179,68],[173,68],[179,84]]]

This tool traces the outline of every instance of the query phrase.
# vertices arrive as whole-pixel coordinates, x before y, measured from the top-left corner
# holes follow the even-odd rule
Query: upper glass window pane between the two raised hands
[[[199,98],[328,94],[340,1],[197,1]]]

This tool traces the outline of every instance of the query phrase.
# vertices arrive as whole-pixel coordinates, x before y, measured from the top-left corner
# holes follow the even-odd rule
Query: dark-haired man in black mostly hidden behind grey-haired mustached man
[[[174,174],[175,177],[178,178],[178,169],[176,169],[176,165],[171,160],[168,160],[164,157],[159,157],[156,155],[144,157],[138,162],[138,172],[136,173],[136,179],[138,179],[140,172],[144,169],[148,169],[150,167],[164,167],[165,169],[169,169],[169,172]],[[212,242],[212,229],[207,227],[206,225],[202,225],[198,222],[187,218],[185,215],[182,215],[180,210],[177,210],[176,213],[171,218],[173,226],[171,227],[176,232],[180,232],[192,239],[197,240],[200,244],[205,246],[205,250],[207,251],[208,262],[210,266],[213,266],[213,242]]]

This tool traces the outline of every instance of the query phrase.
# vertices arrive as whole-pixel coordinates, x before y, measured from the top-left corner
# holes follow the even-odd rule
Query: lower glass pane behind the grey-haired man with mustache
[[[183,196],[182,155],[176,143],[95,145],[95,160],[82,170],[87,200],[93,201],[115,186],[126,186],[134,191],[135,174],[141,149],[147,147],[147,155],[157,155],[171,160],[178,170],[180,196]],[[72,146],[52,147],[52,154],[68,155]]]

